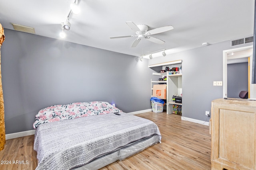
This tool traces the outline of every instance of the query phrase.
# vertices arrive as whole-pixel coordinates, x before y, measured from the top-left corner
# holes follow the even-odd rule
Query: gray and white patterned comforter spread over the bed
[[[39,125],[34,140],[38,158],[36,170],[68,170],[151,135],[157,134],[161,139],[154,122],[127,113],[119,114]]]

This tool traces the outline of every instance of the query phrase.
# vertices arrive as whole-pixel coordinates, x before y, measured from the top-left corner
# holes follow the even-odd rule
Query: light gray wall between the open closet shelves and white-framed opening
[[[182,59],[182,116],[206,121],[211,101],[222,98],[222,86],[213,86],[213,81],[222,81],[222,53],[227,49],[229,41],[224,41],[148,61],[156,64]]]

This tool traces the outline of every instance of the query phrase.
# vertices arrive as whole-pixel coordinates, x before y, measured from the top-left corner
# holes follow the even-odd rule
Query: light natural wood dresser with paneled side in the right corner
[[[212,170],[256,170],[256,101],[212,101]]]

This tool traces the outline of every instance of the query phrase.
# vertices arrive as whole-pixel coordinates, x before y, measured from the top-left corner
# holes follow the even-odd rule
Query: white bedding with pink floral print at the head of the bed
[[[46,107],[36,114],[36,121],[33,127],[36,129],[42,123],[113,112],[122,111],[108,102],[80,102],[67,105],[54,105]]]

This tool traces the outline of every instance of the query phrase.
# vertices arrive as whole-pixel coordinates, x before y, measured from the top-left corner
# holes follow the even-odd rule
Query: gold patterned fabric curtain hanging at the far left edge
[[[4,42],[4,28],[0,23],[0,150],[3,150],[5,145],[4,96],[3,96],[2,74],[1,74],[1,46],[3,42]]]

